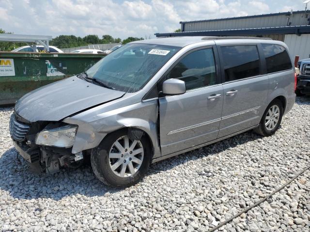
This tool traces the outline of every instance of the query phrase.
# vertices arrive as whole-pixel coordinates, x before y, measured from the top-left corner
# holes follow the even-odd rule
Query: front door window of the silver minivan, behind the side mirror
[[[182,58],[167,74],[185,82],[186,90],[216,84],[216,66],[212,48],[194,51]]]

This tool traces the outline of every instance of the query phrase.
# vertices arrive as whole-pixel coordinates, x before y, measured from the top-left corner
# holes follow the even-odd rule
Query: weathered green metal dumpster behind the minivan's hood
[[[104,56],[0,52],[0,105],[14,104],[31,90],[83,73]]]

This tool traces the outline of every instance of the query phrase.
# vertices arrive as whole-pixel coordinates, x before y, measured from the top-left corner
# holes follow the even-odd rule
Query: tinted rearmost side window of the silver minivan
[[[284,47],[276,44],[262,44],[266,58],[267,73],[292,69],[292,62]]]

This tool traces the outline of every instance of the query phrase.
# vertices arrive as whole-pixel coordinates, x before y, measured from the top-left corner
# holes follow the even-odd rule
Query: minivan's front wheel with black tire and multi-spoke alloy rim
[[[112,132],[93,148],[91,163],[96,177],[103,183],[123,188],[136,184],[147,173],[151,146],[142,136],[132,139],[128,130]]]

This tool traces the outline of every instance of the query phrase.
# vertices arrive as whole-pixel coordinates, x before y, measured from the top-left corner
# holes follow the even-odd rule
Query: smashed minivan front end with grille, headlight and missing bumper
[[[55,173],[61,167],[80,166],[83,153],[72,154],[78,126],[63,122],[29,122],[14,113],[10,134],[19,154],[31,167],[44,173]]]

